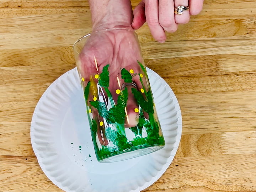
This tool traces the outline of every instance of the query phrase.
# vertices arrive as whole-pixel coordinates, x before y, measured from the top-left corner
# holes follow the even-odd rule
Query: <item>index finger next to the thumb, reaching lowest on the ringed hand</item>
[[[165,42],[165,31],[158,18],[158,0],[145,0],[145,15],[150,32],[156,41]]]

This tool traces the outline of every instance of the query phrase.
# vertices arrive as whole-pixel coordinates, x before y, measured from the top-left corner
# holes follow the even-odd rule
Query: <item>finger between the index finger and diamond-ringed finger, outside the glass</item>
[[[174,19],[174,2],[172,0],[159,0],[159,23],[167,32],[177,31],[178,25]]]

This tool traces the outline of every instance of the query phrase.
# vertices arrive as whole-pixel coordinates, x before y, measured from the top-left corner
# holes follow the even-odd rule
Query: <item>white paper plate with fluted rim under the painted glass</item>
[[[180,143],[181,111],[170,86],[147,71],[165,147],[113,163],[96,160],[77,69],[48,87],[32,117],[31,143],[39,165],[55,185],[69,192],[138,192],[166,171]]]

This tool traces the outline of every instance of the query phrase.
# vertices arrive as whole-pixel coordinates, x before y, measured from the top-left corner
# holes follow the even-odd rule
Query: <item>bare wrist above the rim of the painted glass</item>
[[[130,0],[89,0],[92,31],[107,28],[132,28],[132,6]]]

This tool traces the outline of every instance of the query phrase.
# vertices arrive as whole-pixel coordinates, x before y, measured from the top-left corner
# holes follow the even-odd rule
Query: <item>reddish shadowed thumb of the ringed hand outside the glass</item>
[[[146,22],[146,16],[145,16],[145,4],[144,1],[141,1],[133,11],[133,22],[132,22],[132,28],[137,30],[143,24]]]

